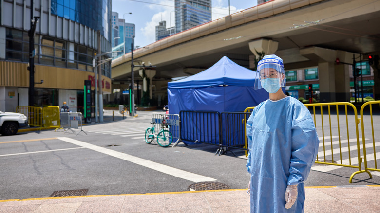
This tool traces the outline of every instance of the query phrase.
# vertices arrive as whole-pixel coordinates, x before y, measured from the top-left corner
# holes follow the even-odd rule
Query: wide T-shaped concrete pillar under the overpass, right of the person
[[[300,50],[302,56],[318,64],[321,102],[342,102],[350,100],[349,64],[353,53],[310,47]],[[339,58],[340,64],[336,64]]]

